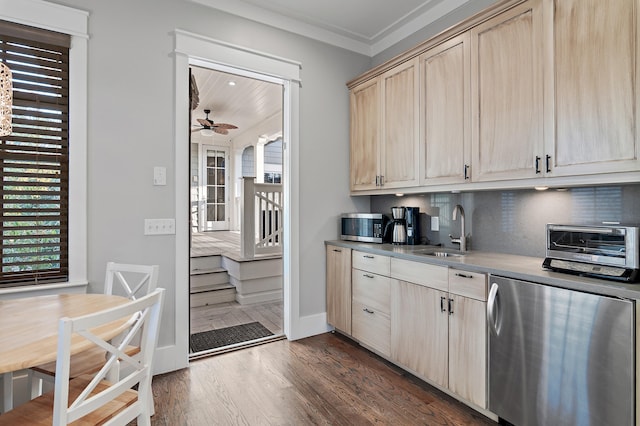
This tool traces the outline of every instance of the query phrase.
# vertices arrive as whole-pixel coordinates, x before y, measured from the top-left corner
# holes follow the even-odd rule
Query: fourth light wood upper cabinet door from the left
[[[471,30],[474,181],[536,176],[543,150],[540,12],[531,0]]]

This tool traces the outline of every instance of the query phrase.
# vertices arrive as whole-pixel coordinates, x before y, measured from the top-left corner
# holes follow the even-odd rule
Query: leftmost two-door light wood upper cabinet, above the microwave
[[[351,89],[351,190],[418,185],[418,60]]]

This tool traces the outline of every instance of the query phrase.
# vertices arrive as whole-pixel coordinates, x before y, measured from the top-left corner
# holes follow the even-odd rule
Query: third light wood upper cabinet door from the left
[[[470,177],[470,56],[464,33],[420,56],[420,183]]]

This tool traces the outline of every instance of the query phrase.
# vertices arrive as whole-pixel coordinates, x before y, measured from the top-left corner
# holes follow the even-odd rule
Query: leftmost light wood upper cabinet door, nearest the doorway
[[[355,87],[351,107],[351,190],[375,189],[379,170],[380,85],[373,79]]]

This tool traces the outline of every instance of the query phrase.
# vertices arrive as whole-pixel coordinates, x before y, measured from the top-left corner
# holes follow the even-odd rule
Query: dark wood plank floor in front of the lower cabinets
[[[156,376],[154,425],[495,425],[337,334]]]

